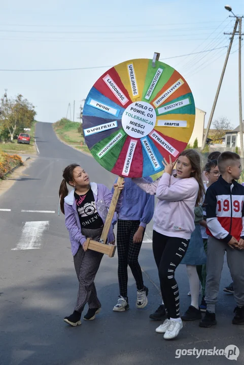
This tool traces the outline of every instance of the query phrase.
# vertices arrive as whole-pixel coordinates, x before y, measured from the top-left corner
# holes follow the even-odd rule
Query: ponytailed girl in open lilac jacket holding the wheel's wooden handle
[[[67,184],[73,187],[69,194]],[[117,187],[117,184],[114,186]],[[123,185],[119,186],[119,190],[122,190],[123,187]],[[72,164],[63,171],[59,197],[79,280],[75,310],[70,316],[65,317],[64,321],[72,326],[77,326],[81,324],[81,313],[87,303],[89,309],[83,317],[85,320],[94,319],[101,308],[94,279],[103,254],[89,249],[85,251],[83,246],[88,237],[99,241],[113,195],[103,184],[90,182],[87,172],[80,165]],[[116,206],[117,211],[121,203],[122,196],[120,195]],[[108,242],[114,243],[112,227],[109,231]]]

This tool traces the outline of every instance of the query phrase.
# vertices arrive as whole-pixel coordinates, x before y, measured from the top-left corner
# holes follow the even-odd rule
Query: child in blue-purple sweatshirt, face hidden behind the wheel
[[[153,181],[151,177],[146,179],[150,182]],[[115,184],[116,182],[117,179]],[[128,265],[136,282],[136,307],[144,308],[148,303],[148,288],[143,282],[138,255],[141,250],[146,226],[151,221],[153,212],[154,196],[137,187],[131,178],[125,177],[122,205],[118,216],[116,213],[112,222],[114,226],[118,219],[117,249],[120,295],[118,303],[113,308],[115,312],[124,312],[129,309],[127,297]]]

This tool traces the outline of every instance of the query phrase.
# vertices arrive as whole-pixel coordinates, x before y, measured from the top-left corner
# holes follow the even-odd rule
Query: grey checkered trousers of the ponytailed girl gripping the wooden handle
[[[90,237],[95,241],[99,241],[103,227],[97,229],[82,229],[85,237]],[[97,298],[94,279],[99,269],[103,253],[93,250],[84,251],[80,245],[74,256],[74,264],[76,274],[79,280],[79,290],[77,295],[77,303],[75,310],[82,312],[86,303],[89,308],[100,308],[101,303]]]

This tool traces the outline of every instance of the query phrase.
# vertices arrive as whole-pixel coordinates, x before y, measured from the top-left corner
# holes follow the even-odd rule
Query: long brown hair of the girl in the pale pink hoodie
[[[194,172],[191,173],[191,176],[195,177],[195,179],[197,180],[198,185],[199,185],[199,190],[198,190],[197,199],[196,199],[196,206],[198,206],[205,193],[205,189],[204,189],[204,185],[203,185],[203,181],[202,181],[202,177],[201,177],[202,169],[201,169],[200,155],[195,150],[188,149],[188,150],[183,151],[180,154],[180,156],[186,156],[191,163],[192,169],[195,170]]]

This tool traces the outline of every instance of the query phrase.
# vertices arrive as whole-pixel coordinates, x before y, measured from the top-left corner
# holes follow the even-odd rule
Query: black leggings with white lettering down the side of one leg
[[[164,306],[170,318],[180,317],[180,295],[175,271],[186,254],[189,241],[153,231],[153,254],[158,267]]]

